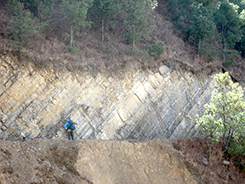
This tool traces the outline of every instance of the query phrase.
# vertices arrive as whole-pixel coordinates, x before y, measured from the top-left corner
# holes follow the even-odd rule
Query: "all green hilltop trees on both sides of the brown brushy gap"
[[[234,51],[245,55],[244,0],[5,0],[2,6],[10,21],[2,20],[2,36],[14,40],[15,49],[25,47],[35,33],[58,37],[69,40],[66,45],[72,51],[76,41],[82,41],[75,32],[90,30],[100,32],[102,45],[119,36],[120,42],[132,45],[134,51],[138,43],[145,45],[143,49],[151,44],[160,48],[161,44],[149,37],[156,28],[153,12],[158,3],[164,4],[165,14],[170,14],[184,40],[197,47],[198,55],[214,60],[221,53],[224,65],[232,64],[229,56]],[[158,6],[157,11],[164,10]],[[150,54],[159,56],[161,52]]]

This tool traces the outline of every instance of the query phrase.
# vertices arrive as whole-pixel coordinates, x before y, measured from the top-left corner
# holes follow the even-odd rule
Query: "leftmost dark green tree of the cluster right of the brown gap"
[[[198,47],[214,34],[213,12],[217,2],[214,0],[170,0],[169,6],[174,24],[180,29],[185,39]]]

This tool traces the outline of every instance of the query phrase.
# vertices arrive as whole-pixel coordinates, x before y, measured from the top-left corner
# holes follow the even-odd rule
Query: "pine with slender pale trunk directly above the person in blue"
[[[64,26],[70,29],[70,47],[73,47],[74,31],[90,26],[86,20],[87,11],[93,0],[63,0],[62,13]]]

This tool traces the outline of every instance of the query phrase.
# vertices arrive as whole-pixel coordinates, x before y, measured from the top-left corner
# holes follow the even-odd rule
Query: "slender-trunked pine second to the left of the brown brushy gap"
[[[95,24],[101,25],[101,43],[105,40],[105,29],[107,29],[113,18],[122,8],[121,0],[94,0],[90,9],[91,19]]]

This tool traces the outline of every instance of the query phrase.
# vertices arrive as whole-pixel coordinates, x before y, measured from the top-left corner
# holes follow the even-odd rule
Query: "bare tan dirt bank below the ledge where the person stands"
[[[0,141],[0,183],[196,184],[183,156],[163,140]]]

